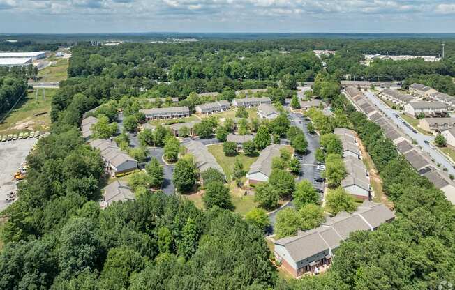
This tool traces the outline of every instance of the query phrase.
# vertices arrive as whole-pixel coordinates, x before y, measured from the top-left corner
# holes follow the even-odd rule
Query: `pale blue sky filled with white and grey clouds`
[[[455,33],[455,0],[0,0],[0,33]]]

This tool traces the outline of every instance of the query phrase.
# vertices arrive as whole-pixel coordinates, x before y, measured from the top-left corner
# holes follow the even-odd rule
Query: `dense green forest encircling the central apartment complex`
[[[436,40],[385,40],[383,46],[378,40],[317,40],[313,45],[310,40],[270,40],[75,47],[71,77],[52,100],[52,134],[40,139],[27,158],[27,181],[20,183],[20,198],[5,213],[0,289],[363,290],[437,289],[443,281],[455,283],[454,209],[398,155],[378,125],[340,95],[340,77],[358,59],[331,56],[329,74],[321,73],[320,61],[308,49],[326,41],[331,49],[349,44],[352,53],[366,52],[361,50],[366,43],[371,50],[401,52],[405,41],[405,54],[438,51]],[[362,69],[389,66],[379,63]],[[446,74],[435,64],[422,64],[422,72],[408,68],[414,61],[396,63],[396,68],[403,65],[403,79]],[[447,58],[438,66],[453,68],[453,61]],[[256,68],[260,73],[249,80],[237,75]],[[142,93],[184,99],[191,92],[274,86],[288,73],[316,79],[315,93],[336,112],[325,123],[327,131],[342,120],[359,133],[395,205],[396,220],[378,231],[352,234],[336,250],[328,273],[279,279],[262,231],[231,211],[200,211],[191,201],[161,192],[100,210],[103,162],[77,129],[84,112]]]

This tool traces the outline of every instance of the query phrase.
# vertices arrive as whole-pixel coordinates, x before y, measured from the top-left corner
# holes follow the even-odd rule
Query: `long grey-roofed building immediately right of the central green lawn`
[[[269,181],[271,174],[271,161],[275,157],[280,156],[280,150],[284,147],[285,145],[271,144],[261,151],[258,159],[253,162],[250,167],[250,171],[246,174],[249,184]]]

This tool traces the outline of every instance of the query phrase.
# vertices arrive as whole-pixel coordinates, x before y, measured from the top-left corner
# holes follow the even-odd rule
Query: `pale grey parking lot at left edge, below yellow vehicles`
[[[17,189],[13,175],[37,141],[36,138],[29,138],[0,143],[0,211],[10,204],[8,193]]]

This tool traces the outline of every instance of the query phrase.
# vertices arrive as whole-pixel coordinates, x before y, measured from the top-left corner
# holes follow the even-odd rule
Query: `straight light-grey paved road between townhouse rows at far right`
[[[374,93],[366,91],[365,96],[369,100],[371,100],[371,102],[373,102],[373,104],[375,104],[378,108],[380,108],[382,110],[382,112],[384,112],[391,121],[393,121],[396,125],[398,125],[398,127],[401,128],[401,130],[403,132],[405,132],[406,135],[408,135],[412,139],[415,139],[417,141],[417,144],[419,144],[419,146],[422,147],[422,150],[424,152],[426,152],[431,158],[433,158],[436,163],[440,163],[442,165],[442,167],[446,167],[448,174],[455,175],[455,169],[453,167],[454,165],[452,165],[452,162],[447,160],[447,158],[445,158],[445,156],[442,155],[438,150],[431,148],[431,146],[428,144],[425,144],[425,141],[432,142],[435,139],[434,136],[426,136],[418,131],[417,131],[417,133],[412,132],[412,130],[410,130],[410,128],[408,128],[406,125],[403,124],[403,121],[396,118],[395,114],[400,114],[399,111],[391,109],[389,106],[385,105],[385,103],[382,102],[382,100],[380,100],[380,98],[378,98],[378,96],[375,96]]]

